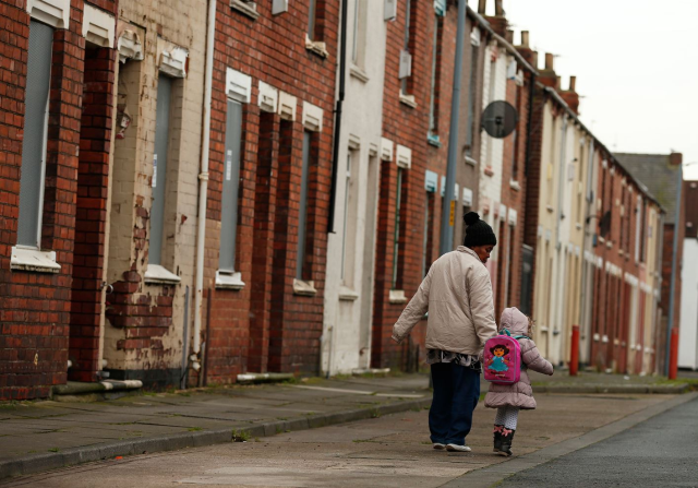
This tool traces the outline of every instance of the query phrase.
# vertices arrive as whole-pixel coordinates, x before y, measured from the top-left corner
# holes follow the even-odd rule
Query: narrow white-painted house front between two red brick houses
[[[322,341],[322,369],[330,374],[368,368],[371,360],[378,174],[380,165],[387,164],[382,163],[377,155],[383,127],[381,107],[387,32],[383,9],[383,2],[373,0],[349,0],[347,9],[347,85],[339,143],[335,234],[327,237]],[[362,59],[359,56],[353,62],[357,13],[361,22],[356,32],[364,36],[365,50]],[[360,46],[361,41],[357,45]],[[350,145],[353,148],[353,168],[351,185],[347,189],[346,165]],[[372,156],[374,151],[375,157]],[[350,209],[345,205],[347,190],[350,192]],[[345,233],[347,211],[349,221]],[[351,263],[351,270],[344,279],[342,248],[345,259]]]

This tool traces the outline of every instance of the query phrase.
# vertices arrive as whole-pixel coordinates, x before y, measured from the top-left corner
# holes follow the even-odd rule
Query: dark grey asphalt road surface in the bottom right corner
[[[698,400],[521,472],[497,488],[674,486],[698,487]]]

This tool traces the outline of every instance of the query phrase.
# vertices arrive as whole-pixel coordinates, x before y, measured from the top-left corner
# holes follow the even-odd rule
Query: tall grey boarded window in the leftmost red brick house
[[[39,245],[52,43],[53,29],[32,21],[20,177],[17,243],[21,246],[38,247]]]

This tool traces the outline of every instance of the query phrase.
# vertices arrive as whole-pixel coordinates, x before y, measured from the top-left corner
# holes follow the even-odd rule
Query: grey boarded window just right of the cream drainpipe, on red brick
[[[238,189],[240,187],[240,145],[242,138],[242,105],[228,100],[226,121],[226,157],[222,169],[220,222],[220,255],[218,269],[233,272],[238,229]]]

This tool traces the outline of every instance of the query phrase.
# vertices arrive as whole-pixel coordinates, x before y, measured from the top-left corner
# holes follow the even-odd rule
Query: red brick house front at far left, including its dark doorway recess
[[[100,288],[104,241],[99,231],[83,231],[104,222],[99,202],[106,197],[110,123],[100,117],[110,112],[113,58],[109,49],[86,53],[83,4],[73,0],[68,28],[53,32],[40,249],[55,251],[61,269],[45,274],[10,265],[17,241],[31,17],[24,1],[0,2],[0,49],[7,60],[0,84],[0,398],[48,396],[52,385],[67,380],[69,344],[75,377],[95,379],[98,310],[91,301]],[[115,1],[95,4],[116,13]]]

